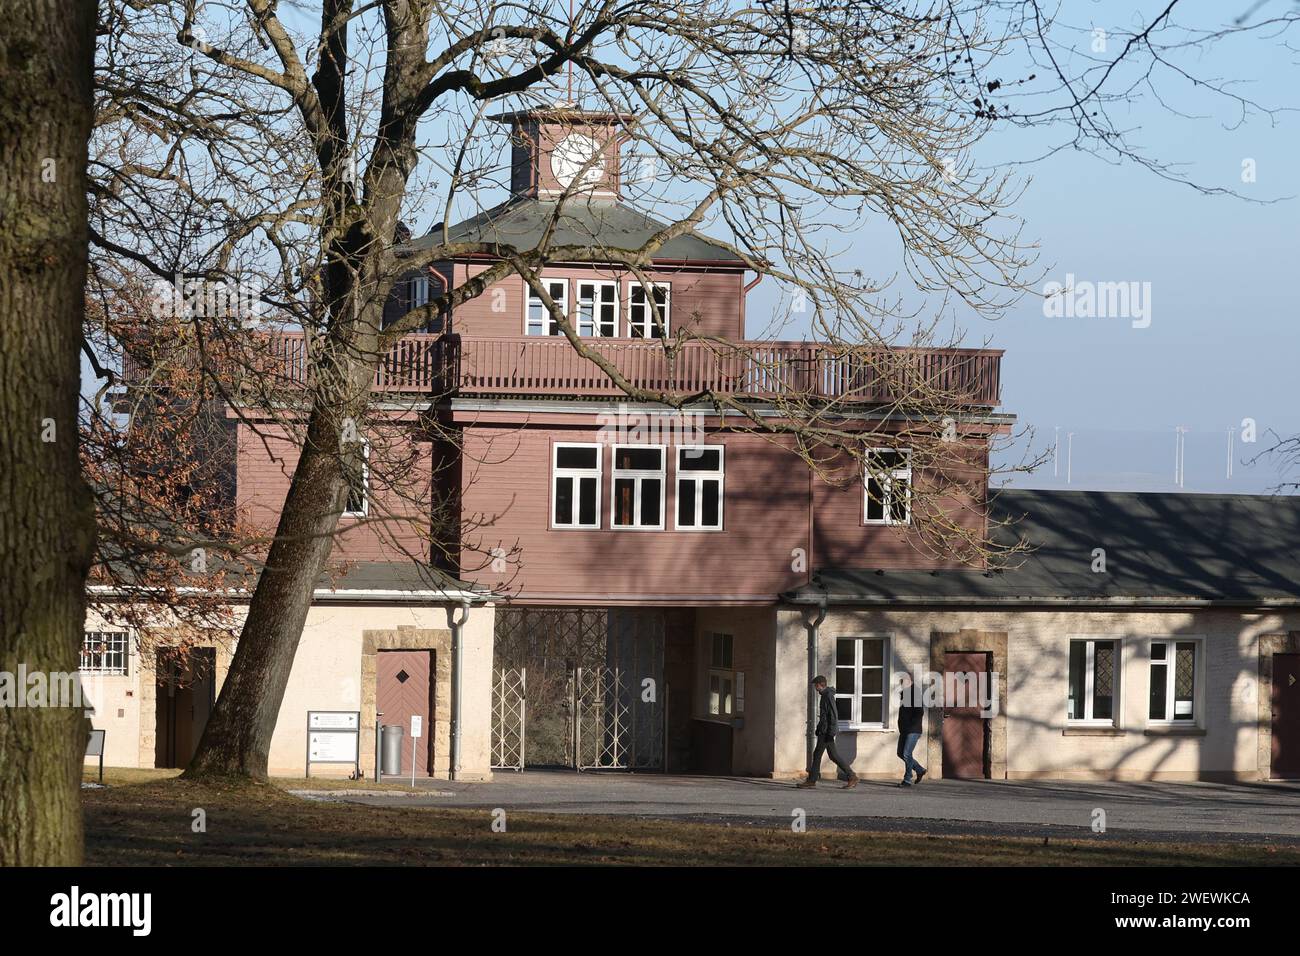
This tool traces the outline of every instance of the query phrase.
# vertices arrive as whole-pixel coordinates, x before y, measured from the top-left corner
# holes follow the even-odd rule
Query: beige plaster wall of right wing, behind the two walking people
[[[774,773],[802,774],[807,665],[805,617],[777,611]],[[890,611],[831,610],[822,624],[818,670],[832,667],[840,636],[888,633],[892,667],[928,669],[933,632],[1006,632],[1006,775],[1063,779],[1257,779],[1268,774],[1258,758],[1258,640],[1296,630],[1300,615],[1201,611]],[[1069,640],[1100,636],[1121,640],[1118,734],[1082,734],[1066,727]],[[1173,734],[1147,721],[1149,646],[1153,639],[1202,637],[1199,730]],[[992,649],[992,648],[989,648]],[[837,745],[863,777],[901,777],[893,730],[897,701],[884,731],[841,732]],[[927,714],[927,730],[933,721]],[[922,760],[926,757],[922,756]],[[824,771],[833,770],[829,763]]]

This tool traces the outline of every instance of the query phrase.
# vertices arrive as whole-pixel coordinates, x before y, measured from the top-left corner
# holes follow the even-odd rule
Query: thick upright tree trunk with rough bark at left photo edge
[[[0,866],[82,858],[75,674],[95,514],[78,460],[95,4],[13,0],[0,25]],[[58,683],[57,680],[55,682]],[[23,704],[43,706],[16,706]],[[56,706],[57,704],[57,706]]]

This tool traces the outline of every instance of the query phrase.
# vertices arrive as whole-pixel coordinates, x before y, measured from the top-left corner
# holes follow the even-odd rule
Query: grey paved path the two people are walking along
[[[840,790],[838,783],[806,791],[768,779],[546,770],[498,773],[491,783],[429,783],[429,795],[334,799],[760,826],[785,826],[792,810],[802,808],[809,829],[822,823],[976,835],[1087,835],[1093,809],[1101,808],[1108,836],[1216,842],[1269,836],[1300,844],[1300,783],[927,780],[902,790],[863,780],[853,791]]]

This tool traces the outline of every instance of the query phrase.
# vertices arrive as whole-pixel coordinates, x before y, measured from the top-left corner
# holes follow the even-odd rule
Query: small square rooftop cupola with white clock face
[[[628,117],[556,104],[491,118],[511,125],[511,195],[555,199],[572,186],[571,198],[619,198]]]

